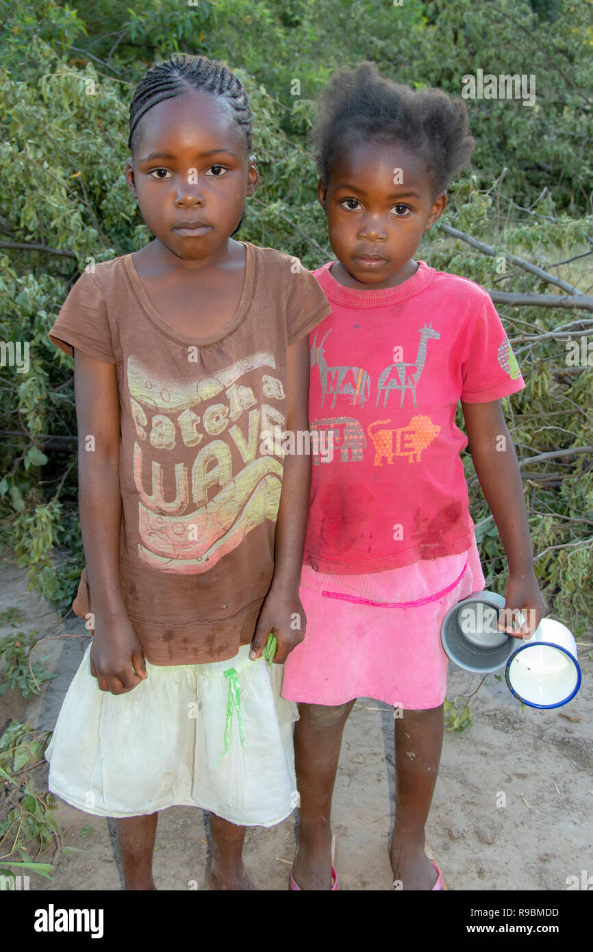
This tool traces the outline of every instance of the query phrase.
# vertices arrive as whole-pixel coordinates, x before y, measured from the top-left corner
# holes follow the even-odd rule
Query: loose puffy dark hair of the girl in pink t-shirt
[[[468,166],[475,146],[462,99],[453,99],[443,89],[409,89],[394,83],[371,62],[333,74],[317,98],[310,140],[326,186],[347,145],[397,142],[424,159],[433,198]]]

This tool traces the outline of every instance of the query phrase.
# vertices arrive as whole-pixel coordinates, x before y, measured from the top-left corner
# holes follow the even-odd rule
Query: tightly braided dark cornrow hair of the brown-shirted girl
[[[251,109],[241,80],[218,60],[179,53],[148,69],[134,91],[129,106],[128,149],[132,155],[138,123],[148,109],[192,90],[211,92],[227,103],[233,121],[245,135],[247,149],[253,148]]]

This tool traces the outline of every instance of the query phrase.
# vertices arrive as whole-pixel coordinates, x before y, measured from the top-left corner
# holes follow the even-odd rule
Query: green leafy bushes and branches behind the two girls
[[[584,295],[593,260],[592,10],[589,0],[146,0],[133,10],[109,0],[76,10],[2,0],[0,340],[29,342],[30,367],[0,367],[0,529],[31,585],[69,605],[82,563],[72,363],[47,332],[89,258],[151,238],[124,179],[128,102],[148,66],[183,50],[239,73],[262,173],[240,237],[309,268],[332,256],[306,132],[333,69],[370,58],[398,81],[457,96],[477,69],[535,74],[533,107],[467,102],[478,147],[443,218],[465,238],[437,226],[419,256],[493,292],[565,294],[568,285]],[[584,298],[581,309],[498,308],[527,385],[504,407],[536,570],[548,613],[582,632],[593,589],[593,469],[583,451],[593,442],[591,368],[567,363],[566,342],[584,336],[586,350],[593,310]],[[560,455],[524,462],[543,454]],[[504,549],[468,453],[464,462],[486,585],[500,590]]]

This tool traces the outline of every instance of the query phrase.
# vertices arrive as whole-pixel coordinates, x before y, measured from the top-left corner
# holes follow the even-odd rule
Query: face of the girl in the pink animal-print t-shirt
[[[425,163],[404,146],[344,149],[327,188],[321,179],[317,187],[342,266],[332,269],[336,279],[351,288],[393,288],[411,277],[416,268],[409,262],[446,206],[446,193],[435,199],[432,188]]]

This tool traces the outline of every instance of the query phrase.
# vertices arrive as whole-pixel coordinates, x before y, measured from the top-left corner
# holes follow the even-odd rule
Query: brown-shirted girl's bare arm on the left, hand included
[[[102,690],[121,694],[146,677],[146,666],[142,645],[129,624],[120,585],[122,498],[115,366],[75,350],[74,391],[80,527],[95,617],[91,673]],[[138,673],[134,674],[132,664]]]

